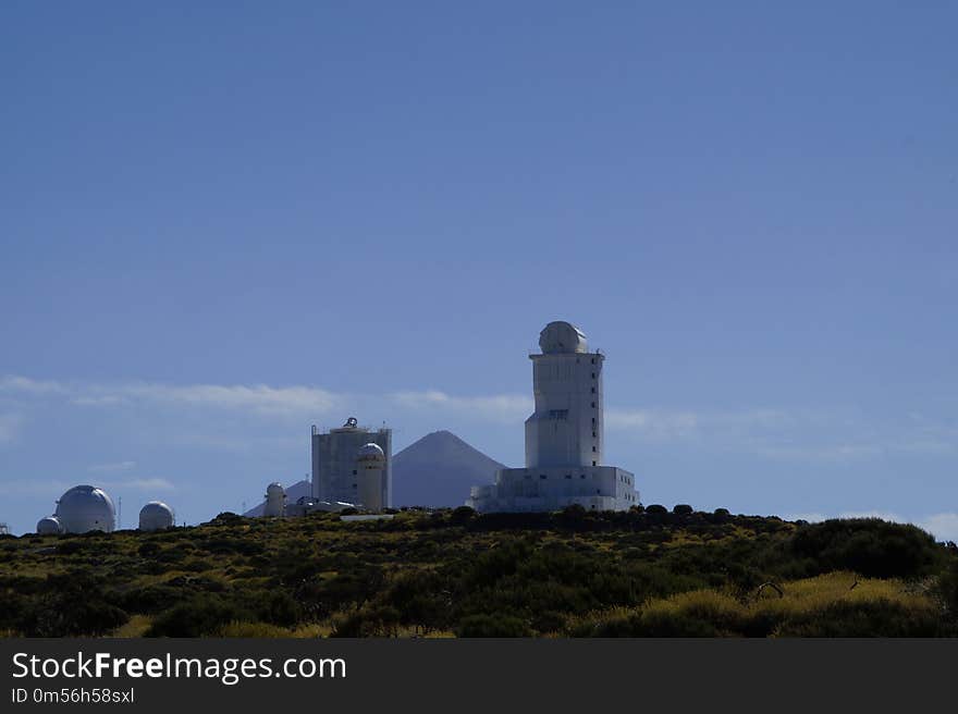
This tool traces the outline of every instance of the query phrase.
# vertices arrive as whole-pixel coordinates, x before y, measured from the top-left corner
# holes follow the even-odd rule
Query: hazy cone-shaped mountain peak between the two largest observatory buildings
[[[393,456],[393,505],[462,506],[469,487],[492,483],[501,468],[454,433],[433,431]]]

